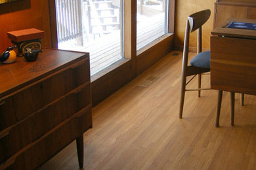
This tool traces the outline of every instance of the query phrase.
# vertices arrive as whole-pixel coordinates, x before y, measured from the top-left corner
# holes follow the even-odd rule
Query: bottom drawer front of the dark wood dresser
[[[74,139],[83,135],[83,133],[91,128],[91,106],[80,110],[47,132],[40,139],[14,154],[12,158],[5,163],[0,164],[0,169],[35,169],[38,165],[48,160],[60,151],[64,146],[70,144]]]

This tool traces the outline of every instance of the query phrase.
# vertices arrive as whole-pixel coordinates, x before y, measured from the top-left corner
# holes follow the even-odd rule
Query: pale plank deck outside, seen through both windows
[[[164,34],[163,27],[165,23],[163,18],[163,14],[160,14],[150,18],[150,22],[146,22],[146,18],[139,22],[137,27],[137,49]],[[74,46],[74,40],[58,44],[58,46],[60,49],[89,52],[91,75],[94,75],[123,58],[121,55],[120,37],[120,30],[117,30],[84,44],[84,46]]]

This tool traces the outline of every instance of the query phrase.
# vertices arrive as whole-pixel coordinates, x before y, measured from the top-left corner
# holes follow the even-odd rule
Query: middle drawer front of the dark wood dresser
[[[53,129],[91,103],[90,83],[37,110],[15,126],[0,132],[0,162]],[[47,122],[43,121],[47,120]],[[2,133],[2,135],[1,135]],[[6,133],[5,135],[3,133]],[[2,137],[1,137],[2,136]]]

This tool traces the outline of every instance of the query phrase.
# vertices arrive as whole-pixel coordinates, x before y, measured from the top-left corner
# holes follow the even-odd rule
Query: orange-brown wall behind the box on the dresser
[[[8,31],[37,28],[45,31],[43,47],[51,47],[49,5],[46,0],[20,0],[0,5],[0,52],[11,46]]]

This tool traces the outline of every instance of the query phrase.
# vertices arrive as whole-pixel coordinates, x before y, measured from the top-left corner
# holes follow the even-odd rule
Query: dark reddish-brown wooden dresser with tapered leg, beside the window
[[[0,65],[0,169],[35,169],[92,127],[89,54],[43,48]]]

